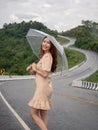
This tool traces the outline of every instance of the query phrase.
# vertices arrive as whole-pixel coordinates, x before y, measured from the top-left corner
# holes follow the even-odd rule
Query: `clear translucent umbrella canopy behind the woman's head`
[[[68,69],[68,62],[67,58],[64,52],[63,46],[59,44],[59,42],[56,41],[56,39],[42,31],[35,30],[35,29],[29,29],[26,38],[28,40],[28,43],[30,44],[34,54],[39,58],[40,53],[40,46],[42,43],[42,39],[47,36],[49,40],[54,44],[54,46],[57,48],[58,51],[58,67],[57,70],[63,72],[64,70]]]

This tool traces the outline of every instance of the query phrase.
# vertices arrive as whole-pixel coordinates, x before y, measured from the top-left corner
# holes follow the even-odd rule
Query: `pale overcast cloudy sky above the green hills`
[[[0,0],[0,28],[23,20],[58,31],[81,25],[82,20],[98,23],[98,0]]]

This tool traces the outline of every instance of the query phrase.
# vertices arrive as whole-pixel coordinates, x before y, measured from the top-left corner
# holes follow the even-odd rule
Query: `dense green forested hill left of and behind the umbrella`
[[[26,67],[37,61],[27,40],[26,34],[30,28],[41,30],[57,37],[58,32],[48,29],[40,22],[21,22],[4,24],[0,29],[0,68],[5,74],[28,74]]]

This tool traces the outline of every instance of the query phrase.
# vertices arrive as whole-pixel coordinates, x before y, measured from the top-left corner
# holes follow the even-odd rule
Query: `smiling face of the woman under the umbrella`
[[[51,48],[50,40],[48,38],[45,38],[42,42],[42,50],[46,53],[49,52],[50,48]]]

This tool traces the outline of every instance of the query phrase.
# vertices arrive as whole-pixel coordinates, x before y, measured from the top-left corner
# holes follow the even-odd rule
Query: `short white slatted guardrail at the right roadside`
[[[98,91],[98,83],[94,83],[94,82],[73,80],[72,86],[85,88],[85,89],[91,89],[91,90],[97,90]]]

